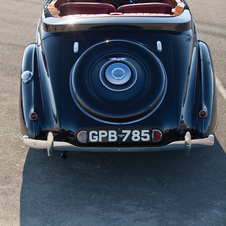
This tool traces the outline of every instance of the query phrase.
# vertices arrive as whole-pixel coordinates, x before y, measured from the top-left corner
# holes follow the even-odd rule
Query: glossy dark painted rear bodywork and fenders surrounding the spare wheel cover
[[[136,30],[129,26],[124,31],[104,25],[103,30],[98,27],[98,29],[92,30],[51,33],[47,32],[51,29],[43,28],[44,23],[40,21],[37,45],[33,47],[35,51],[25,51],[23,59],[23,64],[34,65],[36,68],[33,70],[34,81],[21,86],[20,123],[23,134],[29,133],[28,135],[32,135],[33,138],[46,139],[47,133],[52,131],[54,139],[65,140],[78,146],[88,146],[88,144],[80,144],[77,141],[79,131],[92,128],[118,130],[149,127],[163,132],[162,140],[159,143],[127,145],[161,146],[182,139],[187,131],[190,131],[196,138],[207,137],[215,131],[216,95],[211,56],[208,47],[198,42],[192,20],[189,22],[189,29],[185,31],[177,29],[171,31],[164,29]],[[161,104],[147,117],[134,120],[129,125],[123,123],[116,125],[107,123],[106,120],[96,120],[95,117],[92,117],[92,109],[90,114],[86,114],[83,107],[76,104],[71,94],[70,76],[76,62],[87,49],[112,40],[129,41],[142,48],[147,48],[162,63],[167,76],[166,93]],[[159,42],[162,45],[161,51],[158,47]],[[76,52],[74,43],[79,46]],[[117,51],[116,57],[120,57],[120,54],[123,56],[123,48],[121,53],[119,50]],[[132,52],[133,50],[130,50],[130,54]],[[35,57],[30,58],[31,54],[35,54]],[[90,57],[96,57],[96,55],[99,59],[98,53],[93,53]],[[136,57],[142,62],[139,54],[136,54]],[[146,60],[148,61],[148,59]],[[84,68],[87,67],[86,71],[89,71],[91,66],[88,62],[84,63]],[[85,79],[82,73],[76,74],[76,76]],[[86,81],[84,80],[84,82]],[[79,84],[77,85],[79,86]],[[88,95],[89,99],[89,95],[92,93],[84,95]],[[208,109],[208,115],[202,119],[198,112],[204,106]],[[38,119],[32,122],[28,119],[30,109],[36,109],[39,115]],[[115,111],[117,112],[117,108]],[[104,112],[102,111],[101,114]]]

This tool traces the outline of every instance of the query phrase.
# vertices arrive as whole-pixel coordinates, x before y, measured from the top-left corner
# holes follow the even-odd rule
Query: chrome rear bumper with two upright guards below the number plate
[[[207,138],[191,139],[190,132],[187,132],[184,140],[174,141],[165,146],[159,147],[77,147],[67,142],[54,141],[52,132],[48,133],[47,140],[30,139],[29,136],[23,136],[25,146],[36,149],[47,149],[48,156],[53,155],[53,150],[56,151],[90,151],[90,152],[142,152],[142,151],[170,151],[170,150],[185,150],[185,154],[189,155],[190,149],[202,146],[213,146],[214,135],[209,135]]]

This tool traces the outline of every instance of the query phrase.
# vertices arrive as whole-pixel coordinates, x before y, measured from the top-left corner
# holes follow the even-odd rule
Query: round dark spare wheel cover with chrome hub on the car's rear
[[[144,46],[125,40],[98,43],[76,61],[71,94],[90,117],[128,124],[152,114],[162,102],[167,76],[158,57]]]

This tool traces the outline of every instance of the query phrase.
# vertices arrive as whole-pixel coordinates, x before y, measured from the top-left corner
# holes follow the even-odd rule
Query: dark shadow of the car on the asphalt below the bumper
[[[225,161],[217,139],[189,157],[73,152],[63,160],[29,149],[20,225],[223,225]]]

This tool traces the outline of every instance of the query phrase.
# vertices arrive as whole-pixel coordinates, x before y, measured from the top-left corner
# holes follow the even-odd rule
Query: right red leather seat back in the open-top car
[[[171,9],[171,6],[167,3],[150,2],[142,4],[122,5],[117,9],[117,12],[171,14]]]

